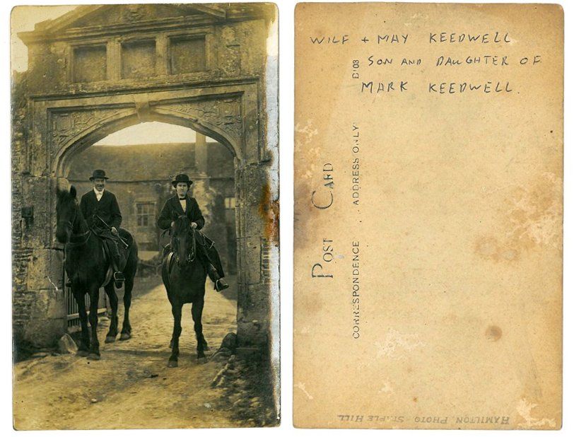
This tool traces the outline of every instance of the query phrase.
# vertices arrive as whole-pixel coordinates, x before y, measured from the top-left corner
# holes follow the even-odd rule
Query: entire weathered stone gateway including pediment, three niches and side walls
[[[66,329],[55,192],[66,183],[71,158],[146,121],[190,127],[233,151],[238,341],[269,342],[269,293],[278,289],[269,269],[278,265],[271,265],[269,245],[276,243],[259,211],[271,202],[264,187],[277,170],[267,150],[264,44],[274,15],[274,6],[262,4],[79,6],[20,35],[30,60],[13,88],[17,344],[52,345]],[[185,53],[204,58],[172,59]],[[86,71],[90,62],[94,71]]]

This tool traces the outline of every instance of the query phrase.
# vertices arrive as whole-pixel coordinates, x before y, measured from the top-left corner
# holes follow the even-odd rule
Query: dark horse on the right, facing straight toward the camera
[[[180,216],[171,228],[172,253],[168,253],[162,263],[161,278],[168,291],[173,315],[172,348],[168,367],[177,367],[180,355],[180,334],[182,333],[182,307],[192,304],[195,337],[197,338],[197,359],[205,358],[207,342],[201,326],[201,313],[204,310],[205,280],[207,272],[197,259],[196,231],[189,227],[189,219]]]

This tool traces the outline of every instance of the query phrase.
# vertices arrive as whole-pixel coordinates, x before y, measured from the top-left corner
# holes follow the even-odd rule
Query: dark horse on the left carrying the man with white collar
[[[64,269],[71,281],[72,293],[78,303],[78,312],[82,327],[81,344],[78,347],[78,355],[88,356],[89,359],[100,359],[100,342],[98,342],[98,300],[100,287],[104,287],[107,297],[110,298],[112,307],[112,320],[110,331],[105,337],[105,342],[115,342],[117,336],[117,295],[114,289],[114,281],[111,277],[111,264],[109,257],[104,251],[104,243],[95,235],[83,215],[76,199],[76,188],[70,191],[58,190],[57,228],[56,238],[64,247]],[[134,238],[124,229],[119,230],[124,240],[129,241],[127,264],[124,268],[124,325],[120,340],[131,337],[131,325],[129,325],[129,305],[131,304],[131,289],[134,287],[136,276],[138,248]],[[90,295],[90,325],[92,337],[88,332],[88,314],[84,296]]]

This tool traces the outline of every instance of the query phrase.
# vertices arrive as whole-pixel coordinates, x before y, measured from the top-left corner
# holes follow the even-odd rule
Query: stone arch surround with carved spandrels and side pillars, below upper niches
[[[269,335],[270,245],[261,216],[266,191],[266,152],[259,137],[257,83],[218,84],[201,88],[158,89],[146,93],[67,95],[33,98],[33,143],[29,153],[30,193],[42,185],[47,191],[40,211],[35,241],[35,267],[46,272],[35,288],[44,294],[46,313],[36,322],[54,337],[65,327],[64,304],[45,281],[56,283],[61,254],[54,240],[55,191],[66,181],[71,159],[99,139],[144,121],[168,122],[211,136],[233,151],[235,157],[236,235],[238,239],[238,339],[242,346],[261,346]],[[35,206],[40,206],[35,200]],[[38,211],[38,212],[40,212]],[[35,214],[37,214],[35,212]],[[36,278],[35,280],[38,280]],[[61,308],[59,306],[61,305]],[[35,323],[32,327],[34,327]],[[42,340],[40,339],[41,343]]]

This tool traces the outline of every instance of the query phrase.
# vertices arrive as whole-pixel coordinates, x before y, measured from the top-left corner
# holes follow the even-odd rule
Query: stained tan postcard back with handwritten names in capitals
[[[563,11],[299,4],[294,423],[559,429]]]

